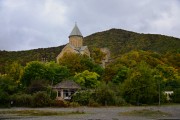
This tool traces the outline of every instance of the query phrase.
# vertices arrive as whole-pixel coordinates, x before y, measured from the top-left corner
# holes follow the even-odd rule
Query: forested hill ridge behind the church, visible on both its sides
[[[94,33],[84,38],[84,44],[92,51],[93,48],[109,48],[112,57],[118,57],[131,50],[154,51],[157,53],[179,53],[180,39],[155,34],[139,34],[121,29],[110,29]],[[0,73],[5,72],[5,65],[19,61],[22,65],[38,60],[55,60],[62,46],[39,48],[27,51],[0,51]]]

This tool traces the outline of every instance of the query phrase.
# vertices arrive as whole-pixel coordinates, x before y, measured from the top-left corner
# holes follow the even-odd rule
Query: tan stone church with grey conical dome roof
[[[75,24],[72,32],[69,35],[69,43],[62,49],[60,54],[56,57],[57,63],[65,53],[76,53],[87,55],[90,57],[90,52],[87,46],[83,46],[83,35],[81,34],[77,24]]]

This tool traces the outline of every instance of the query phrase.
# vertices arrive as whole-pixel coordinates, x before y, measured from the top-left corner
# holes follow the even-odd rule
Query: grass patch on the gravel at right
[[[143,110],[133,110],[130,112],[122,112],[120,115],[125,116],[146,116],[146,117],[160,117],[160,116],[170,116],[171,114],[162,112],[160,110],[149,110],[149,109],[143,109]]]

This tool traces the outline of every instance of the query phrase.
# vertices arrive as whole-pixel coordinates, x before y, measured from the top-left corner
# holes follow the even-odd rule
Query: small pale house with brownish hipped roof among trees
[[[72,80],[64,80],[53,87],[57,91],[57,100],[70,100],[81,87]]]

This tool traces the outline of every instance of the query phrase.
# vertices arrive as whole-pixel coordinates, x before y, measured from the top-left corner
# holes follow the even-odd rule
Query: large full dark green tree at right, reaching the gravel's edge
[[[136,69],[131,69],[123,83],[123,96],[131,104],[150,104],[158,101],[154,70],[147,63],[141,62]]]

